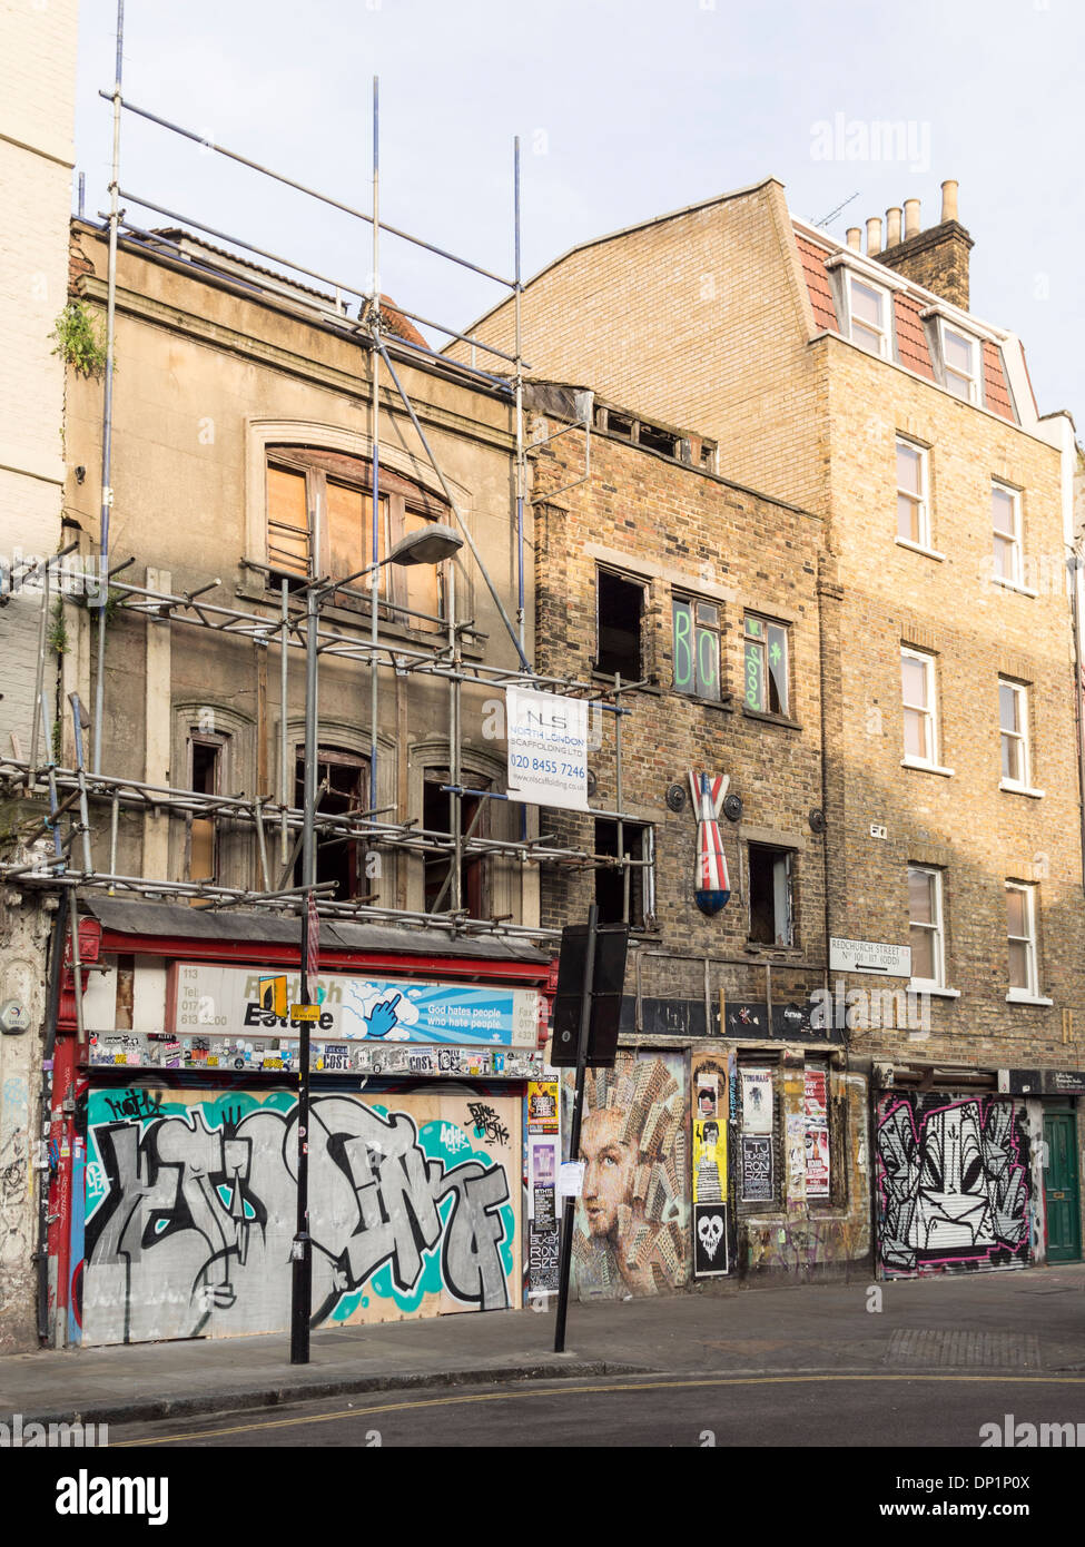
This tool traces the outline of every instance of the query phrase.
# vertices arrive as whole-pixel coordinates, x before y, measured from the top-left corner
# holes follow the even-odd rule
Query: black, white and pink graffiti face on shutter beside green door
[[[878,1160],[887,1273],[1028,1262],[1029,1151],[1020,1101],[884,1095]]]

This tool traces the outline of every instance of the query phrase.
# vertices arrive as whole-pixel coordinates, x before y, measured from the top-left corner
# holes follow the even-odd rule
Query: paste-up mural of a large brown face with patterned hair
[[[679,1054],[619,1052],[613,1071],[588,1071],[573,1238],[573,1286],[582,1298],[656,1295],[687,1282],[686,1132]]]

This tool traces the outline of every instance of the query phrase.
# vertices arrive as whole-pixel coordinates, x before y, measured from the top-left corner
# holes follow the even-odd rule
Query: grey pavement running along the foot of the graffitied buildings
[[[1085,1264],[868,1284],[727,1284],[652,1299],[0,1358],[0,1422],[139,1423],[345,1392],[704,1372],[1085,1372]]]

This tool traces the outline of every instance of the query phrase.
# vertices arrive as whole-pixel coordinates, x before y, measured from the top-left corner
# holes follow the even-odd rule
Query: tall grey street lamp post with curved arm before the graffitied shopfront
[[[310,580],[305,588],[305,797],[302,808],[302,1004],[310,995],[310,899],[316,886],[316,741],[317,741],[317,659],[320,654],[320,606],[342,586],[381,569],[384,565],[440,565],[463,548],[463,538],[450,526],[433,521],[409,532],[387,558],[367,565],[345,580]],[[370,671],[376,676],[376,656]],[[376,698],[376,695],[375,695]],[[376,743],[376,724],[373,724]],[[286,792],[283,791],[283,798]],[[289,1361],[310,1361],[310,1315],[313,1306],[313,1239],[310,1236],[310,1021],[300,1023],[297,1049],[297,1227],[291,1247],[293,1281],[289,1303]]]

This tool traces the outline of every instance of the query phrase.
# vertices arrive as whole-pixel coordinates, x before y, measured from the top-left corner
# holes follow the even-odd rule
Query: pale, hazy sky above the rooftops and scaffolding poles
[[[116,0],[82,0],[76,156],[91,218],[108,207],[98,91],[113,82],[115,28]],[[1085,439],[1083,54],[1080,0],[127,0],[124,93],[371,210],[378,76],[381,218],[509,278],[517,135],[525,277],[768,175],[839,240],[905,198],[936,224],[940,186],[957,178],[970,309],[1020,334],[1040,413],[1070,408]],[[878,144],[885,122],[901,130]],[[128,113],[121,186],[371,285],[365,223]],[[449,326],[506,294],[392,237],[381,288]]]

